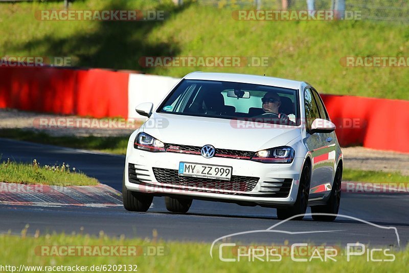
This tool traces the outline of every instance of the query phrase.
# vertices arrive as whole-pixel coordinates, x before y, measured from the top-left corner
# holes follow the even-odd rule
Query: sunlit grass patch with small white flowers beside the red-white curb
[[[53,186],[95,186],[99,184],[97,179],[86,176],[69,164],[41,166],[37,160],[34,160],[32,164],[3,161],[0,163],[0,182]]]

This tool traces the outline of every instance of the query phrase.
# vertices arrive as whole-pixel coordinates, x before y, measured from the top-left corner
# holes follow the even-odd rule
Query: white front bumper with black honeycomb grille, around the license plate
[[[232,180],[212,183],[210,179],[181,178],[177,176],[179,162],[232,166]],[[263,164],[235,158],[205,158],[197,154],[155,153],[134,149],[129,143],[125,186],[131,191],[156,196],[279,207],[296,201],[303,164],[304,158],[297,157],[291,164]]]

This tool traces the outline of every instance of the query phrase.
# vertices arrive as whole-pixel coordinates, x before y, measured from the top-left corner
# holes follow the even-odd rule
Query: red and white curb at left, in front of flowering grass
[[[121,192],[97,186],[47,186],[0,183],[0,204],[30,206],[122,207]]]

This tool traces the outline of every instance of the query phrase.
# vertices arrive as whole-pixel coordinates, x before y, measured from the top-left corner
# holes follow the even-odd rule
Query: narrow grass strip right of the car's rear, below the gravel
[[[352,169],[344,169],[342,179],[345,181],[371,183],[409,183],[409,176],[402,175],[399,172],[363,171]]]

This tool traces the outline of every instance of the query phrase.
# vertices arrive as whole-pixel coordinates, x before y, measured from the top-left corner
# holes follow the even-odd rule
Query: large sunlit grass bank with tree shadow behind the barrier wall
[[[409,28],[374,21],[237,21],[232,10],[170,1],[87,0],[71,9],[157,9],[165,21],[39,21],[62,3],[2,4],[1,56],[67,56],[76,65],[181,77],[195,71],[305,80],[319,92],[407,100],[409,69],[347,68],[344,56],[409,56]],[[187,1],[186,1],[187,2]],[[226,2],[226,1],[224,1]],[[224,3],[220,2],[220,3]],[[278,2],[278,1],[277,1]],[[305,1],[304,1],[305,5]],[[268,56],[268,67],[144,68],[142,56]]]

